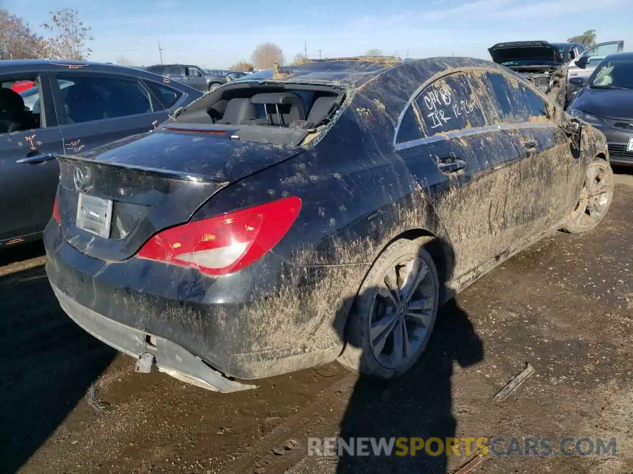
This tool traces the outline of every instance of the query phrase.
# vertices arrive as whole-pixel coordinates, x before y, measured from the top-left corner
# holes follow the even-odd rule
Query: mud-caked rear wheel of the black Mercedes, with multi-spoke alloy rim
[[[436,265],[423,248],[428,242],[398,240],[373,264],[348,317],[343,365],[390,379],[418,360],[439,302]]]

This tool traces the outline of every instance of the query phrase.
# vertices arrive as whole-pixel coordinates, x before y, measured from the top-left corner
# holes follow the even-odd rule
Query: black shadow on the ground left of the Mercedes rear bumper
[[[37,245],[16,250],[0,252],[0,262],[15,262],[18,253],[43,253]],[[66,316],[43,265],[0,277],[0,308],[0,471],[13,473],[53,434],[116,352]]]

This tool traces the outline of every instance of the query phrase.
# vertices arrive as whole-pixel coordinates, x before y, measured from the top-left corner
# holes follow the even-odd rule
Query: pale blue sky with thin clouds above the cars
[[[92,28],[90,59],[125,58],[223,68],[249,59],[260,42],[278,44],[290,60],[354,56],[379,48],[411,57],[489,59],[500,41],[561,41],[593,29],[598,42],[633,47],[633,0],[4,0],[32,27],[51,9],[76,8]]]

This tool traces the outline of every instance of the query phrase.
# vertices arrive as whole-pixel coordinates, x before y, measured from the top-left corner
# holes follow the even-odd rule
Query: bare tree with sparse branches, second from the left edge
[[[94,38],[90,34],[90,28],[79,21],[77,10],[66,8],[49,13],[53,15],[51,23],[44,23],[42,28],[52,35],[47,40],[50,56],[84,61],[92,52],[86,43]]]

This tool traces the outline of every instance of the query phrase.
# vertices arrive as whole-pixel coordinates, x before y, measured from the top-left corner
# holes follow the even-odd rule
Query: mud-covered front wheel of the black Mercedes
[[[613,200],[613,170],[608,161],[596,158],[587,166],[587,175],[578,204],[563,227],[572,234],[596,227],[606,216]]]

